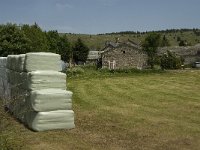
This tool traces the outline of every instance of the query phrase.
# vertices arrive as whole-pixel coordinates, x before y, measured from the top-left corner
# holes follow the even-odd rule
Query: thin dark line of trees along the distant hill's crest
[[[200,36],[200,29],[193,28],[193,29],[166,29],[166,30],[158,30],[158,31],[121,31],[121,32],[112,32],[112,33],[105,33],[105,35],[115,35],[115,34],[149,34],[149,33],[177,33],[177,32],[194,32],[197,36]],[[104,35],[104,34],[98,34]]]

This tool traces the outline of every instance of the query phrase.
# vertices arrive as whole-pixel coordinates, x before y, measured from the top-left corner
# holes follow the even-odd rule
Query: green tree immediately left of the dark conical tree
[[[72,58],[71,44],[66,35],[60,37],[58,42],[58,54],[61,55],[61,59],[64,62],[70,62],[70,59]]]

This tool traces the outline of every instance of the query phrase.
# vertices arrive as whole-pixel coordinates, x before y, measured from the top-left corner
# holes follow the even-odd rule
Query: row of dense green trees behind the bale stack
[[[53,52],[60,54],[65,62],[85,62],[89,48],[80,38],[70,43],[65,34],[60,36],[56,30],[42,31],[36,23],[0,25],[0,56],[28,52]]]

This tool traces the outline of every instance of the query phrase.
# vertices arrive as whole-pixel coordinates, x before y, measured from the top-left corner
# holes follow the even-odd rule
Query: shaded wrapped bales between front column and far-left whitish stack
[[[24,71],[25,54],[9,55],[7,57],[7,77],[8,77],[8,95],[6,99],[7,108],[13,115],[24,122],[25,98],[27,92],[23,89],[22,74]]]

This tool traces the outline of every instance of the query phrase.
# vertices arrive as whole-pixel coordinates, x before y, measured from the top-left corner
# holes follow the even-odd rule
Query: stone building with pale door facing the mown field
[[[102,68],[143,69],[147,66],[147,55],[133,42],[107,43],[101,53]]]

